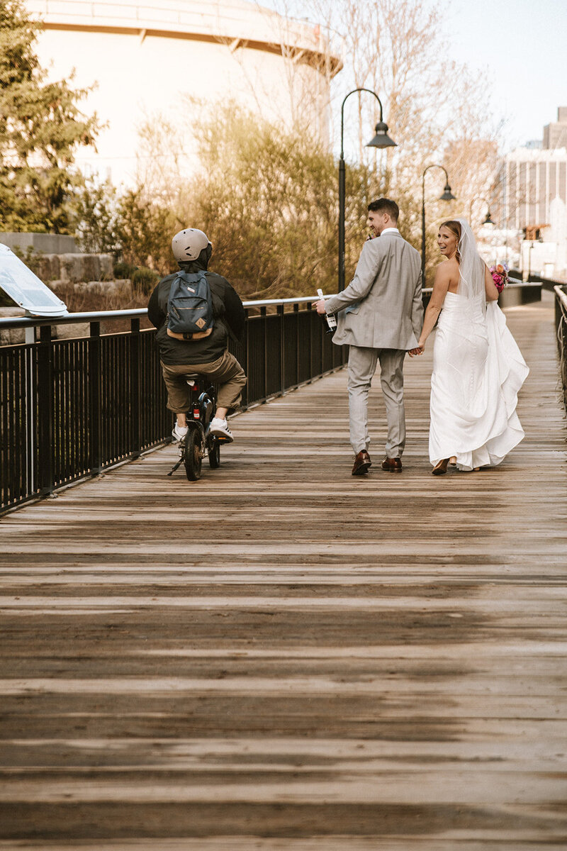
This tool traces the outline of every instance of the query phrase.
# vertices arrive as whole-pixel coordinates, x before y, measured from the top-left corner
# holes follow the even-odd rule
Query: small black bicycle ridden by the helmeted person
[[[213,385],[207,386],[207,379],[202,375],[188,375],[187,384],[190,387],[190,409],[187,413],[188,431],[179,442],[179,460],[173,465],[167,476],[183,464],[190,482],[201,478],[202,460],[207,454],[211,470],[220,466],[220,444],[227,443],[226,438],[209,433],[209,424],[216,408],[217,394]]]

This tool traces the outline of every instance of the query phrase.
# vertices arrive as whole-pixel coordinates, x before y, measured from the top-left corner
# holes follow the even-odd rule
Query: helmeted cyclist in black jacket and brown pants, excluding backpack
[[[185,228],[172,240],[175,260],[182,271],[207,271],[213,246],[207,235],[196,228]],[[239,342],[244,331],[244,307],[226,278],[207,271],[213,302],[213,330],[210,334],[173,334],[167,328],[167,300],[176,273],[167,275],[150,295],[148,317],[157,328],[157,342],[167,387],[167,408],[177,416],[173,437],[183,440],[187,434],[186,414],[190,408],[188,374],[206,375],[218,386],[217,410],[211,420],[211,434],[234,438],[226,417],[241,402],[247,377],[235,356],[228,351],[229,338]],[[188,339],[190,338],[190,339]]]

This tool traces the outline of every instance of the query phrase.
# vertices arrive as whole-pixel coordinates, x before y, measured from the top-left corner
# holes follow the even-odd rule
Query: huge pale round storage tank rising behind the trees
[[[98,152],[82,151],[85,172],[131,182],[139,128],[162,112],[187,117],[184,94],[236,100],[269,120],[309,123],[328,141],[329,86],[342,67],[340,45],[319,26],[246,0],[26,0],[43,21],[37,42],[51,79],[96,88],[82,111],[107,123]]]

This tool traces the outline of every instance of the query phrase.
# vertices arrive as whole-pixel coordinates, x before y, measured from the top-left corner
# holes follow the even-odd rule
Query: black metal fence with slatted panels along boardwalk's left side
[[[345,363],[346,350],[332,344],[310,299],[245,306],[244,340],[230,347],[248,376],[245,408]],[[0,346],[0,513],[168,440],[173,417],[155,330],[140,330],[145,314],[0,319],[0,328],[39,334],[32,342]],[[101,334],[101,322],[124,319],[129,331]],[[85,322],[88,337],[52,336],[55,324]]]

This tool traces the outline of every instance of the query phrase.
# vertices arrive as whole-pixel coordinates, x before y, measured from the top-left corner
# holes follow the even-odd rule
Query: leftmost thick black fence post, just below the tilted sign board
[[[37,346],[37,485],[39,494],[54,490],[53,349],[51,326],[40,329]]]

